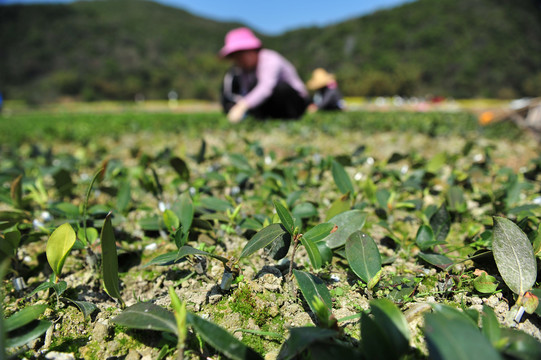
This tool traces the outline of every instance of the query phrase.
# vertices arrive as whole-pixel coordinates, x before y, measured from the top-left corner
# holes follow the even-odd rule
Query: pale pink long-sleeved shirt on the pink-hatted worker
[[[280,80],[288,83],[301,96],[308,96],[304,83],[297,74],[295,67],[274,50],[259,50],[255,75],[257,77],[257,85],[244,97],[250,108],[258,106],[268,98]],[[245,75],[243,74],[242,76]]]

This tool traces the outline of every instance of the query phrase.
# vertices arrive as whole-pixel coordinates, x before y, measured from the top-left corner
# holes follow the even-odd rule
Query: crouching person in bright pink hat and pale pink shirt
[[[232,123],[246,114],[255,118],[297,119],[308,106],[308,91],[295,67],[245,27],[225,36],[220,56],[234,66],[222,84],[222,107]]]

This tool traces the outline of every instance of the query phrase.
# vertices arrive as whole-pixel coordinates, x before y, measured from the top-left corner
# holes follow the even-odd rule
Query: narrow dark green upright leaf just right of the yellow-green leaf
[[[121,306],[124,306],[122,296],[120,295],[118,278],[118,256],[116,253],[116,240],[111,225],[111,213],[107,214],[103,227],[101,228],[101,254],[102,254],[102,276],[105,291],[109,296],[117,299]]]

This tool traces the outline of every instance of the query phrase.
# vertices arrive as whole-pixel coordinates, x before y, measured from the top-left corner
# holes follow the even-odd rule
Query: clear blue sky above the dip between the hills
[[[73,0],[0,0],[11,3],[67,3]],[[268,35],[305,26],[325,26],[412,0],[157,0],[196,15],[239,21]]]

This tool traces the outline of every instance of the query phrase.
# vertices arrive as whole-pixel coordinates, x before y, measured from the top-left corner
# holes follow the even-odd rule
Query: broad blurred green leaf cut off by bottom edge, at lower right
[[[442,360],[501,359],[473,321],[444,305],[425,315],[425,337],[431,358]]]

